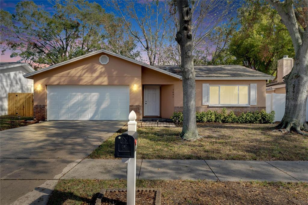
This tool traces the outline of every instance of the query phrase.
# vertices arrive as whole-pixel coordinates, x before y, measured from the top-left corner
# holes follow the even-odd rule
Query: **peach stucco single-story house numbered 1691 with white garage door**
[[[265,84],[273,76],[243,66],[195,66],[197,111],[223,107],[265,110]],[[37,120],[170,118],[183,110],[179,67],[150,66],[98,50],[24,75],[34,79]]]

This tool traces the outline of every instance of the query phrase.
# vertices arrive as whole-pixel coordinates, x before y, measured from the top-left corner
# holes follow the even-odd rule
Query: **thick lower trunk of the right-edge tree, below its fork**
[[[306,53],[307,54],[307,53]],[[284,78],[286,82],[286,108],[278,129],[308,131],[306,102],[308,96],[308,60],[305,56],[294,59],[292,71]]]

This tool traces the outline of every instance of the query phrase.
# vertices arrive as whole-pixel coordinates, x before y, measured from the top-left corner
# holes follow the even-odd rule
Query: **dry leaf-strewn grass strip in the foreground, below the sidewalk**
[[[126,187],[126,181],[122,179],[60,180],[48,204],[91,204],[95,198],[93,196],[100,189],[124,187]],[[136,180],[136,187],[160,187],[162,204],[308,203],[307,183]]]

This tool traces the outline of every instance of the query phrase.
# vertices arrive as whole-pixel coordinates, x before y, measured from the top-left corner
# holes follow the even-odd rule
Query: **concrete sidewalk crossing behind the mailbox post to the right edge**
[[[308,182],[308,161],[137,160],[138,179]],[[126,179],[120,159],[84,159],[60,179]]]

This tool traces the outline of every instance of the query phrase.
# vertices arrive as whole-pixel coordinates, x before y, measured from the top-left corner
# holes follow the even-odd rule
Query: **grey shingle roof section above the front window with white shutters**
[[[162,70],[182,75],[179,66],[155,66]],[[265,78],[274,79],[274,76],[252,70],[239,65],[194,66],[196,78]]]

